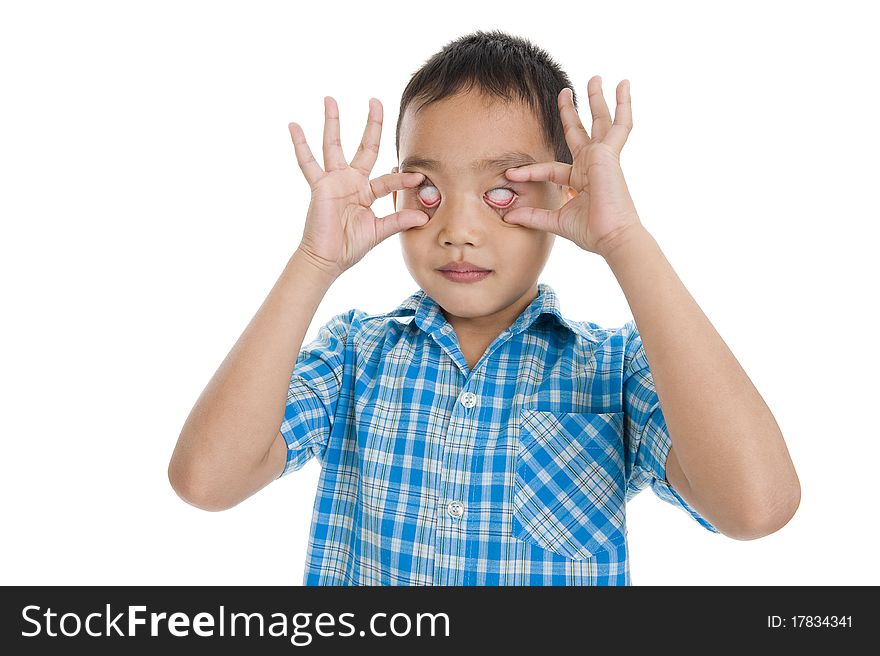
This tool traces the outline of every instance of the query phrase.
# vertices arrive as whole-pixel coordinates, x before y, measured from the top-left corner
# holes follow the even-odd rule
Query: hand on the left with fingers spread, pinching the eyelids
[[[349,165],[339,141],[339,108],[331,96],[324,98],[324,168],[306,143],[297,123],[287,127],[296,161],[312,190],[303,236],[297,251],[321,271],[338,277],[367,252],[391,235],[424,225],[428,215],[402,209],[377,218],[370,206],[392,191],[415,187],[422,173],[387,173],[370,180],[382,136],[382,103],[370,98],[364,136]]]

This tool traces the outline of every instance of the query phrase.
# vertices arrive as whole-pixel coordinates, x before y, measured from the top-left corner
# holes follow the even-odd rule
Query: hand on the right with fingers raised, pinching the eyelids
[[[540,162],[506,171],[510,180],[554,182],[570,187],[577,195],[558,210],[518,207],[507,212],[504,221],[552,232],[605,257],[622,235],[642,227],[620,168],[620,151],[632,130],[629,80],[617,85],[613,123],[598,75],[587,84],[587,94],[593,115],[592,137],[568,90],[563,89],[557,98],[572,164]]]

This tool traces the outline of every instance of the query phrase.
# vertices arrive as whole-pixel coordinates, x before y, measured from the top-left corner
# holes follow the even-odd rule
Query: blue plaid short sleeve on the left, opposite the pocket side
[[[287,464],[278,478],[296,471],[313,457],[323,462],[342,384],[346,343],[356,312],[335,315],[318,329],[313,341],[300,349],[279,429],[287,442]]]

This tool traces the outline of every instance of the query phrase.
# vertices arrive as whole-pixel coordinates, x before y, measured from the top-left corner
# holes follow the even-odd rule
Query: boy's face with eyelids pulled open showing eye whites
[[[470,91],[427,105],[417,115],[410,106],[401,120],[400,170],[425,178],[421,188],[395,192],[394,208],[418,209],[429,217],[425,225],[400,233],[403,258],[459,333],[497,334],[537,296],[538,276],[556,235],[504,223],[504,212],[521,206],[557,209],[573,193],[551,182],[505,177],[505,169],[527,160],[477,167],[480,160],[509,153],[536,162],[556,159],[538,119],[520,102]],[[440,273],[459,261],[491,272],[476,282],[455,282]]]

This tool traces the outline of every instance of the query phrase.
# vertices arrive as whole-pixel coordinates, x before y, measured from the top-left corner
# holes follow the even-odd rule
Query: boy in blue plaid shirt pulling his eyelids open
[[[351,164],[332,98],[323,169],[291,123],[302,241],[183,427],[177,493],[221,510],[318,458],[306,585],[630,585],[625,504],[648,485],[735,539],[787,523],[783,437],[641,225],[629,84],[613,123],[600,84],[588,134],[545,52],[476,32],[405,89],[399,171],[369,177],[375,99]],[[300,349],[330,285],[397,232],[419,291]],[[633,321],[563,318],[537,282],[556,235],[605,258]]]

